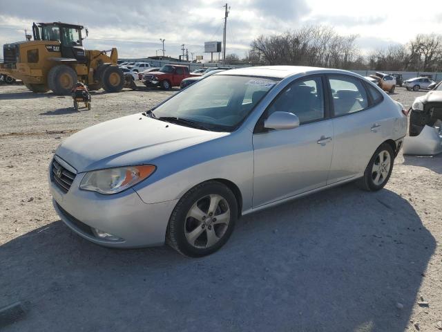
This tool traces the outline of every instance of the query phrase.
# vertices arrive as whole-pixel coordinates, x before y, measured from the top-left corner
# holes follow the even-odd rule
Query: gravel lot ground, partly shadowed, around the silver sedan
[[[442,156],[399,154],[376,193],[348,184],[244,216],[202,259],[70,232],[48,192],[57,145],[172,93],[96,93],[77,112],[70,97],[0,86],[0,307],[26,310],[7,326],[0,314],[1,331],[438,331]]]

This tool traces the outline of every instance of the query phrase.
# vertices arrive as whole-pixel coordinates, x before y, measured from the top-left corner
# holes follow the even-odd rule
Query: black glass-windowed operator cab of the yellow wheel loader
[[[86,64],[86,49],[83,47],[81,30],[83,26],[66,24],[61,22],[38,23],[32,25],[34,40],[49,40],[59,42],[60,46],[47,45],[49,52],[60,52],[61,57],[75,59],[79,64]],[[86,29],[86,35],[88,30]]]

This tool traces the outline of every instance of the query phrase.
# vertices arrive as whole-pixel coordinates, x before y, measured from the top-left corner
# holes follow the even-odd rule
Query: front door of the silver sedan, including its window
[[[327,183],[334,135],[324,86],[325,79],[320,75],[292,82],[258,121],[253,133],[254,208]],[[265,129],[263,121],[275,111],[296,114],[300,126]]]

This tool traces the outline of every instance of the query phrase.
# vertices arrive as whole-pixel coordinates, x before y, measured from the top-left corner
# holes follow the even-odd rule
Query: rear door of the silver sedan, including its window
[[[360,176],[383,142],[383,95],[350,75],[327,75],[332,95],[334,152],[327,185]],[[387,127],[387,126],[385,126]],[[387,128],[385,128],[387,129]]]

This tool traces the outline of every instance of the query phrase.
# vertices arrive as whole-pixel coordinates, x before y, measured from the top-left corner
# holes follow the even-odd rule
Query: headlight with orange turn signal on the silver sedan
[[[80,189],[106,195],[117,194],[148,178],[155,169],[154,165],[140,165],[88,172],[81,180]]]

